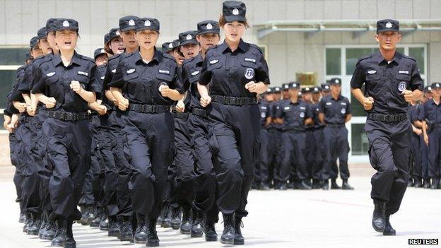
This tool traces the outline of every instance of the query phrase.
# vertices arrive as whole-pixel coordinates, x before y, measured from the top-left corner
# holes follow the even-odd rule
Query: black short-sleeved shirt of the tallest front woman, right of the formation
[[[242,39],[234,52],[225,41],[207,50],[199,83],[210,84],[212,95],[255,98],[245,84],[250,81],[269,84],[268,66],[259,47]]]

